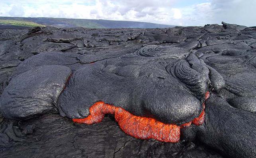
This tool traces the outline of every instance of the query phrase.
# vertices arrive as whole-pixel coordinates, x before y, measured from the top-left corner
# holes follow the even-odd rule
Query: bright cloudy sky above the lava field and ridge
[[[61,17],[180,26],[256,26],[256,0],[0,0],[0,17]]]

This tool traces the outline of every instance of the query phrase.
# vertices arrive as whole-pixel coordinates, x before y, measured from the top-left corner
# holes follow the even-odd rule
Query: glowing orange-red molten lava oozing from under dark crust
[[[205,93],[205,100],[209,98],[209,92]],[[113,114],[120,128],[135,138],[139,139],[156,139],[164,142],[178,142],[180,140],[180,128],[188,127],[192,123],[200,126],[204,122],[204,103],[203,111],[198,118],[192,122],[182,124],[164,124],[154,118],[135,116],[121,107],[115,107],[98,101],[89,109],[90,115],[82,119],[73,119],[80,124],[95,124],[103,120],[105,114]]]

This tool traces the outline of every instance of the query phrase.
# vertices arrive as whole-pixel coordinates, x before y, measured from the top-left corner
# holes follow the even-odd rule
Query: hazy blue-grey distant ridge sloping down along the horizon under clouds
[[[137,22],[137,21],[114,21],[114,20],[95,20],[95,19],[66,19],[66,18],[52,18],[52,17],[0,17],[0,25],[12,25],[19,27],[27,27],[27,24],[24,25],[16,25],[6,24],[1,22],[4,20],[10,21],[22,21],[27,23],[35,23],[39,26],[53,26],[58,28],[63,27],[86,27],[86,28],[168,28],[175,27],[175,25],[162,25],[155,23],[146,23],[146,22]]]

